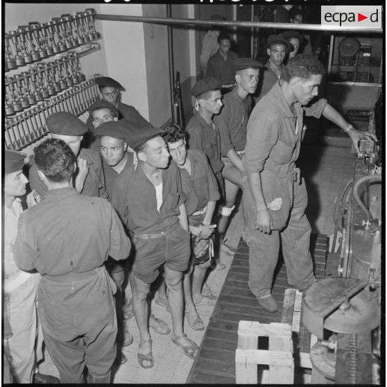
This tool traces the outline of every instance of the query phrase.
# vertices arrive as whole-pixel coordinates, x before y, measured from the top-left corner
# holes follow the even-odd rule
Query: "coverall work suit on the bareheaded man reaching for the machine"
[[[273,230],[264,234],[255,227],[257,211],[250,187],[243,192],[243,205],[250,208],[248,284],[257,297],[270,294],[280,238],[289,284],[303,289],[315,281],[309,252],[311,226],[305,216],[307,190],[295,161],[306,129],[304,112],[320,117],[326,105],[323,98],[308,106],[295,103],[293,114],[277,83],[255,106],[248,121],[246,168],[260,173],[266,205],[282,200],[280,209],[269,209]]]

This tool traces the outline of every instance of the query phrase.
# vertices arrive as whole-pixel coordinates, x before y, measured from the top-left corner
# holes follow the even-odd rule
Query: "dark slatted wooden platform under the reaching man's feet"
[[[312,234],[311,255],[317,278],[325,276],[326,254],[327,236]],[[198,355],[193,361],[187,383],[235,384],[235,351],[238,346],[239,321],[258,321],[264,324],[281,322],[284,293],[288,288],[285,266],[279,259],[272,291],[279,310],[276,313],[269,313],[259,306],[248,288],[248,246],[241,239]],[[310,334],[308,338],[302,322],[300,330],[305,333],[300,337],[304,342],[297,345],[309,349]],[[301,352],[309,350],[302,349]],[[297,378],[297,375],[295,377]]]

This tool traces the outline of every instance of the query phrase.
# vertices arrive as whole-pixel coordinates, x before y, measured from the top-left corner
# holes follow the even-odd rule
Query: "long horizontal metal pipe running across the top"
[[[309,30],[309,31],[338,31],[341,33],[383,33],[382,28],[364,28],[359,30],[358,26],[321,26],[320,24],[290,24],[273,22],[233,22],[229,20],[198,20],[198,19],[178,19],[176,17],[144,17],[130,15],[106,15],[96,14],[98,20],[111,20],[114,22],[140,22],[155,24],[183,24],[184,26],[222,26],[222,27],[246,27],[246,28],[279,28],[289,30]]]

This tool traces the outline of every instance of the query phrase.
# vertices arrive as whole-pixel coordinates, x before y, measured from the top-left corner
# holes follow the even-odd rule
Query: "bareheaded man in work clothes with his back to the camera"
[[[76,156],[64,141],[43,141],[35,164],[48,192],[19,218],[15,262],[42,274],[39,318],[60,381],[82,383],[87,366],[89,383],[109,384],[117,317],[115,285],[103,264],[108,256],[126,259],[130,240],[107,200],[71,186]]]

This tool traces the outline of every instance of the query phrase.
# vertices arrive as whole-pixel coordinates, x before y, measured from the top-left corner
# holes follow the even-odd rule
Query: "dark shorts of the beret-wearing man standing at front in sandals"
[[[135,261],[132,273],[142,282],[152,284],[163,264],[171,270],[185,271],[191,254],[190,236],[178,224],[172,232],[154,239],[132,237]]]

